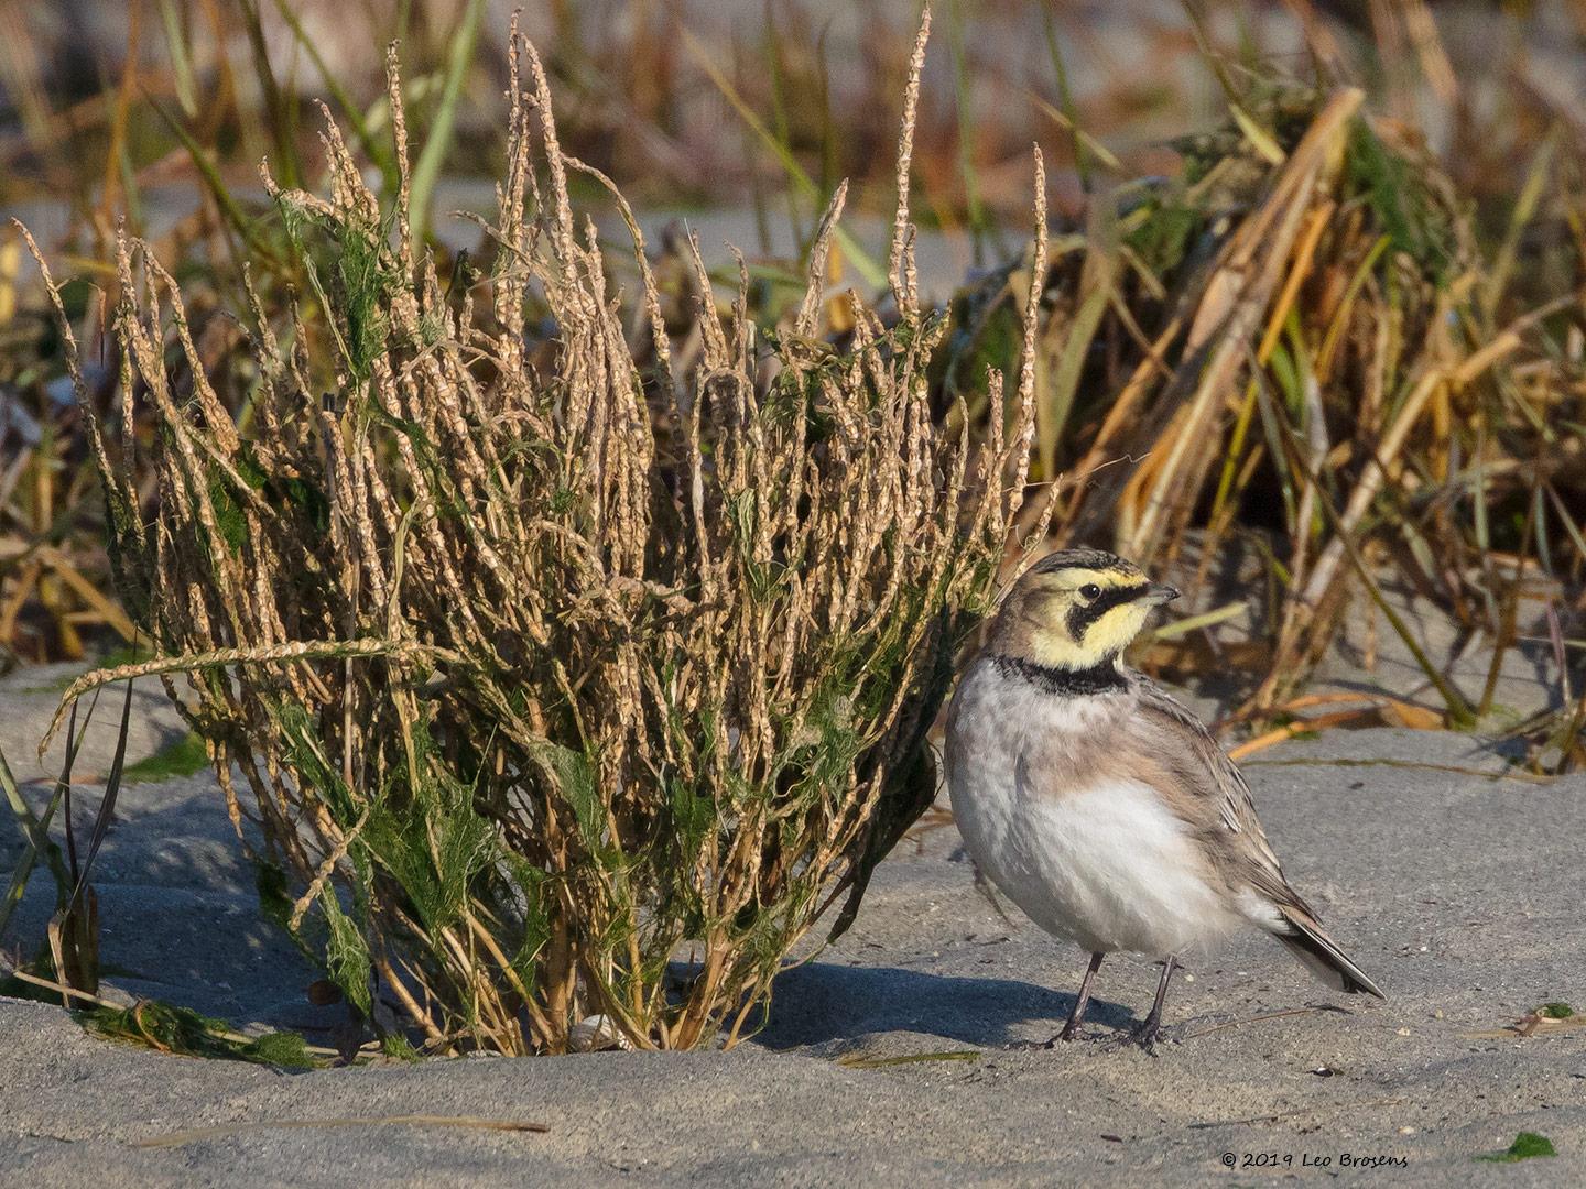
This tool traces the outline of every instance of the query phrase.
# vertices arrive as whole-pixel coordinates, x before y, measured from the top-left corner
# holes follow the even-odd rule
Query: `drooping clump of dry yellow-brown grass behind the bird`
[[[1201,626],[1255,609],[1243,645],[1197,648],[1212,636],[1183,623],[1158,650],[1180,674],[1240,674],[1240,718],[1291,707],[1354,615],[1402,637],[1442,712],[1383,698],[1329,721],[1389,709],[1472,726],[1492,709],[1516,623],[1546,607],[1562,688],[1556,713],[1523,729],[1564,769],[1586,761],[1564,645],[1580,633],[1559,629],[1586,610],[1586,236],[1578,214],[1559,219],[1550,252],[1545,228],[1527,227],[1545,193],[1572,209],[1554,189],[1556,141],[1483,249],[1469,203],[1361,100],[1231,95],[1234,122],[1185,146],[1182,185],[1129,187],[1053,238],[1032,474],[1069,477],[1055,542],[1174,569],[1204,593]],[[1013,266],[960,295],[937,361],[948,423],[948,398],[982,415],[988,361],[1012,368],[1025,284]],[[1258,563],[1231,587],[1216,569],[1235,545]],[[1446,607],[1491,656],[1484,685],[1450,680],[1385,585]],[[1216,587],[1237,601],[1218,607]]]

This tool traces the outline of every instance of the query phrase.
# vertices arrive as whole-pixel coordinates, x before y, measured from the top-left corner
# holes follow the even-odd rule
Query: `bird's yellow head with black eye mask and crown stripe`
[[[1047,669],[1094,669],[1139,636],[1153,609],[1177,598],[1132,561],[1098,549],[1063,549],[1009,591],[988,647]]]

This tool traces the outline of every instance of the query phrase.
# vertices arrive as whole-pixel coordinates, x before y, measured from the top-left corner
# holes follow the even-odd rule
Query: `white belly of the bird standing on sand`
[[[964,756],[969,759],[969,756]],[[1029,794],[1017,764],[966,764],[953,815],[971,858],[1036,924],[1090,951],[1182,953],[1237,923],[1150,786]]]

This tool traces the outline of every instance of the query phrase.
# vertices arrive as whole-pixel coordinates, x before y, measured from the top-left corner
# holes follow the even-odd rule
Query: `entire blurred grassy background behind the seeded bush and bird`
[[[1339,625],[1380,612],[1435,718],[1469,724],[1527,644],[1554,656],[1559,688],[1508,726],[1535,763],[1580,763],[1586,3],[934,10],[914,211],[925,292],[952,323],[933,369],[944,422],[985,425],[985,373],[1015,365],[1037,141],[1058,238],[1032,479],[1071,480],[1058,539],[1197,569],[1204,591],[1156,663],[1232,663],[1243,717],[1288,729]],[[0,0],[0,211],[76,277],[68,312],[106,411],[125,219],[182,282],[211,382],[246,425],[255,377],[225,315],[246,308],[239,263],[265,290],[301,281],[259,162],[322,187],[324,103],[389,195],[392,40],[422,146],[416,216],[441,276],[466,284],[482,244],[449,212],[493,205],[473,179],[503,170],[509,16],[506,0]],[[917,19],[912,0],[525,6],[563,147],[611,174],[660,246],[685,361],[698,330],[674,220],[750,254],[755,317],[774,328],[847,178],[855,217],[829,276],[880,290]],[[1350,87],[1358,113],[1329,106]],[[611,212],[593,184],[574,197]],[[833,303],[822,333],[841,339],[842,319]],[[0,667],[130,639],[60,342],[11,231],[0,401]],[[1234,544],[1256,614],[1231,653],[1216,629],[1234,594],[1209,558]],[[1396,591],[1489,650],[1489,680],[1451,682],[1396,620]]]

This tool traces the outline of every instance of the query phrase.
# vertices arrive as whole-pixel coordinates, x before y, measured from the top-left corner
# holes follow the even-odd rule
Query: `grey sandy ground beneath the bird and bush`
[[[0,745],[22,778],[40,775],[24,740],[65,675],[0,682]],[[140,698],[135,756],[181,734]],[[108,767],[108,745],[79,772]],[[1505,769],[1478,737],[1389,729],[1247,764],[1291,878],[1385,1004],[1334,996],[1251,937],[1188,959],[1155,1057],[1105,1045],[1155,986],[1126,958],[1102,967],[1082,1042],[1009,1049],[1056,1030],[1083,958],[1006,924],[948,824],[883,864],[855,929],[790,970],[769,1026],[731,1053],[281,1073],[108,1043],[60,1008],[0,1000],[0,1184],[1578,1184],[1586,1027],[1504,1029],[1551,1000],[1586,1010],[1586,778]],[[10,869],[16,843],[0,845]],[[127,788],[95,883],[114,989],[324,1040],[314,972],[260,921],[209,777]],[[35,943],[48,891],[35,878],[6,945]],[[874,1064],[906,1056],[929,1059]],[[366,1122],[403,1114],[549,1130]],[[1559,1156],[1475,1159],[1521,1130]],[[1383,1157],[1399,1164],[1343,1164]]]

